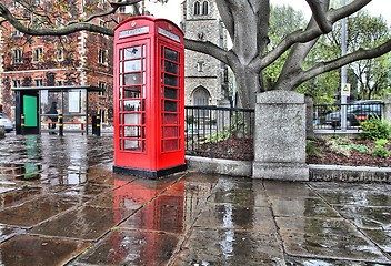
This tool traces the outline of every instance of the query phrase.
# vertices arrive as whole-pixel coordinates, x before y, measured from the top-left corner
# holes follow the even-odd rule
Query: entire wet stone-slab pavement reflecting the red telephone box
[[[391,265],[391,185],[112,173],[112,137],[0,140],[0,265]]]

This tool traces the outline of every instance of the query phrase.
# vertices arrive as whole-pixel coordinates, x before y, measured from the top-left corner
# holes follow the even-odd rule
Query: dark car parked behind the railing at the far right
[[[347,126],[359,126],[370,117],[380,117],[383,102],[381,100],[355,101],[347,104]],[[341,111],[325,115],[325,124],[332,127],[341,126]]]

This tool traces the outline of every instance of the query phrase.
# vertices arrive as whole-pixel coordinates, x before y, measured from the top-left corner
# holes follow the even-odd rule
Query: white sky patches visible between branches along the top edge
[[[348,0],[349,1],[349,0]],[[348,2],[347,1],[347,2]],[[162,6],[161,3],[154,3],[153,0],[146,1],[147,9],[156,17],[169,19],[177,24],[181,20],[181,7],[180,3],[183,0],[169,0],[168,3]],[[270,0],[272,4],[290,4],[295,10],[302,10],[304,16],[309,19],[311,16],[310,8],[307,4],[305,0]],[[341,1],[342,4],[342,1]],[[383,18],[391,23],[391,0],[372,0],[367,7],[365,10],[373,16],[383,16]]]

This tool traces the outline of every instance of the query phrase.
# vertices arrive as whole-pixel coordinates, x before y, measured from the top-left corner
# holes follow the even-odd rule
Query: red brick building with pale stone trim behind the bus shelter
[[[9,1],[9,0],[7,0]],[[6,2],[7,2],[6,1]],[[9,4],[14,14],[29,18],[26,24],[40,23],[40,18],[26,11],[14,1]],[[101,12],[108,1],[69,0],[62,11],[59,1],[36,0],[34,12],[50,11],[51,27]],[[121,12],[122,11],[122,12]],[[92,23],[113,28],[127,18],[124,9],[110,18],[96,18]],[[23,13],[22,13],[23,12]],[[107,22],[110,21],[110,22]],[[0,30],[0,105],[2,112],[14,115],[12,89],[19,86],[92,85],[104,92],[89,94],[89,113],[102,114],[104,122],[112,119],[112,38],[92,32],[77,32],[66,37],[29,37],[12,25],[2,23]],[[13,117],[14,119],[14,117]]]

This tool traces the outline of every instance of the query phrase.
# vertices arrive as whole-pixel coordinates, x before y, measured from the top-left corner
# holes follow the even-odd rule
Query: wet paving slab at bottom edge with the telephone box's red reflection
[[[166,265],[178,236],[159,232],[116,231],[77,259],[88,265]]]

